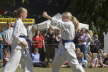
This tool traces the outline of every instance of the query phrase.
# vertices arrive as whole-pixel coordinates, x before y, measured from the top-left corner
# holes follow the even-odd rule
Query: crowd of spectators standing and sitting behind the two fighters
[[[79,22],[76,18],[73,23],[76,30],[72,42],[75,43],[75,53],[79,64],[85,68],[108,67],[108,54],[103,52],[98,34],[86,28],[78,29]],[[35,31],[35,35],[30,41],[30,55],[34,67],[47,67],[54,60],[59,43],[64,41],[62,40],[62,32],[65,30],[53,29],[52,27],[46,32]],[[12,33],[13,25],[11,23],[7,23],[7,29],[0,33],[0,59],[3,60],[3,66],[7,64],[11,56]],[[61,65],[61,67],[64,66],[70,66],[68,60]]]

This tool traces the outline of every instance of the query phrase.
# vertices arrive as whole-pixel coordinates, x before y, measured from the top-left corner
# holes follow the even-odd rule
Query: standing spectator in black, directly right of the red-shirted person
[[[48,32],[46,34],[46,56],[48,62],[50,59],[53,60],[54,54],[55,54],[55,34],[54,34],[54,29],[50,27],[48,29]]]

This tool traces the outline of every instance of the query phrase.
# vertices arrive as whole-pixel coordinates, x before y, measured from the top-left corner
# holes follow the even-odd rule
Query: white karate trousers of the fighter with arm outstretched
[[[65,45],[61,43],[59,45],[59,49],[56,52],[52,64],[52,72],[59,72],[60,66],[64,63],[64,61],[69,62],[73,72],[85,72],[77,60],[75,45],[73,42],[65,43]]]

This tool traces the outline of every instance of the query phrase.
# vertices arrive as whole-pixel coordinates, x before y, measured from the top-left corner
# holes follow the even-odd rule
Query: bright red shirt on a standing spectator
[[[33,48],[43,48],[44,44],[44,37],[43,36],[36,36],[32,38],[33,40]]]

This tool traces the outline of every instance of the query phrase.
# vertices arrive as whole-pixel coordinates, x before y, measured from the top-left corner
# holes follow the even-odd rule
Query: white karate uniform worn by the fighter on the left
[[[20,35],[27,36],[27,30],[22,20],[17,19],[12,36],[12,55],[4,67],[3,72],[15,72],[19,63],[21,64],[23,72],[32,72],[32,60],[27,51],[28,44],[26,47],[20,45],[21,42],[26,42],[24,38],[19,37]]]

